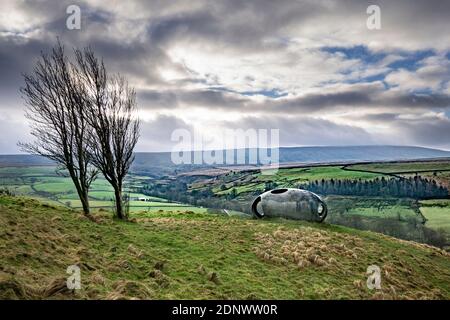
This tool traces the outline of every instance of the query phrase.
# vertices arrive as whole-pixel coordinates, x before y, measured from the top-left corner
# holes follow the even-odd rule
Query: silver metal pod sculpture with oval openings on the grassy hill
[[[252,212],[258,218],[282,217],[322,222],[327,216],[327,205],[318,195],[307,190],[274,189],[253,201]]]

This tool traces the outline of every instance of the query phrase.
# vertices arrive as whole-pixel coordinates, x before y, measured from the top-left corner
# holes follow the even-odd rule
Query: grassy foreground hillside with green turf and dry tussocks
[[[0,196],[0,299],[450,299],[447,253],[380,234],[192,212],[96,217]],[[372,264],[381,290],[366,287]]]

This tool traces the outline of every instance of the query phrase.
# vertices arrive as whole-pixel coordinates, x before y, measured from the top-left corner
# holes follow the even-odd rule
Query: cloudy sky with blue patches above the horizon
[[[70,30],[66,10],[80,8]],[[381,28],[367,27],[367,7]],[[450,1],[0,1],[0,153],[30,141],[19,88],[57,37],[135,87],[136,151],[176,129],[279,129],[282,146],[450,150]],[[70,50],[68,50],[70,51]]]

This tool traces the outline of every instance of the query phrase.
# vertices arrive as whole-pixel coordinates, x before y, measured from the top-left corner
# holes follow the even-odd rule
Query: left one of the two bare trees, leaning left
[[[32,143],[20,143],[22,150],[55,161],[67,170],[89,215],[88,192],[98,170],[88,152],[90,130],[86,113],[85,86],[58,41],[51,54],[42,53],[32,74],[24,75],[21,88],[30,120]]]

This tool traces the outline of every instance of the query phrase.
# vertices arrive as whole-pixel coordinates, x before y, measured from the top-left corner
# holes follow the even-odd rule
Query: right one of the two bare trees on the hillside
[[[90,48],[77,50],[76,57],[88,93],[92,162],[114,189],[117,217],[126,219],[123,182],[139,139],[136,92],[122,76],[108,76],[103,61],[99,61]]]

